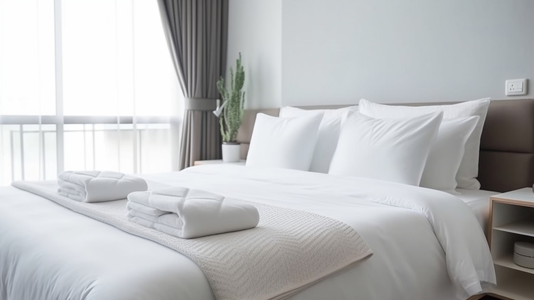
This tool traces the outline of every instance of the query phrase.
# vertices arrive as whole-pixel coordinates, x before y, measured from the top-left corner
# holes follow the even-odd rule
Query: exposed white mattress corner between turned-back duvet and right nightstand
[[[499,192],[492,192],[489,190],[463,190],[457,188],[454,194],[459,199],[462,199],[472,210],[476,219],[487,234],[487,221],[489,218],[489,197],[499,194]]]

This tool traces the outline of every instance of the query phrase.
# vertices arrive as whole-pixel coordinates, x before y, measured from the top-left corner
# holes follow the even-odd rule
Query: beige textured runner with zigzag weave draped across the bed
[[[126,200],[74,201],[58,195],[55,182],[12,186],[186,255],[201,268],[216,299],[285,299],[372,255],[352,227],[301,210],[244,201],[259,211],[254,229],[183,240],[128,221]]]

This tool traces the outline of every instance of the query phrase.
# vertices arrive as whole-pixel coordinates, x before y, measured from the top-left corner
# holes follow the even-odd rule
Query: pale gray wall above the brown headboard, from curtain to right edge
[[[249,108],[505,99],[534,79],[532,0],[230,0]],[[249,60],[249,61],[247,61]],[[533,84],[529,83],[529,95]]]

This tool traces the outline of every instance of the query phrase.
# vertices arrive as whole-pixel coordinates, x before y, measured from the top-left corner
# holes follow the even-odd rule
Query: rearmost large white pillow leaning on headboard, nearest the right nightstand
[[[420,116],[431,112],[443,112],[443,118],[466,118],[469,116],[479,116],[476,127],[466,142],[466,152],[463,154],[458,173],[456,174],[457,188],[478,190],[480,182],[476,180],[479,175],[479,148],[482,127],[489,107],[489,98],[475,101],[466,101],[452,105],[430,105],[430,106],[397,106],[381,105],[372,103],[366,99],[359,101],[359,112],[374,118],[392,118]]]

